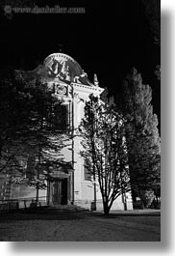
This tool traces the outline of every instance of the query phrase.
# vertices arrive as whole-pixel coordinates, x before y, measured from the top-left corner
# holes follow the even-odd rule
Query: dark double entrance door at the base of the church
[[[58,179],[54,181],[52,198],[54,205],[67,204],[67,179]]]

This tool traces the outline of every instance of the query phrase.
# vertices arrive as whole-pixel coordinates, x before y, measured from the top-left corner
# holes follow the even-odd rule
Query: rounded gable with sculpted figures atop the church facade
[[[64,53],[50,54],[44,60],[44,66],[51,77],[58,77],[65,82],[77,82],[93,86],[87,78],[87,73],[72,57]]]

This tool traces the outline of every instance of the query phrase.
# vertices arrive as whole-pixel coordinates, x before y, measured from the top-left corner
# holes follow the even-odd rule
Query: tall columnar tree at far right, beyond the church
[[[151,195],[148,191],[160,186],[161,142],[158,118],[151,104],[151,87],[142,83],[135,68],[124,81],[121,99],[132,189],[148,206],[145,194]]]

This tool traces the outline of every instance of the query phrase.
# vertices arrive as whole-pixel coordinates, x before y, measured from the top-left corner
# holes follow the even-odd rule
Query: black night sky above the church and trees
[[[97,73],[100,86],[107,86],[113,96],[126,73],[136,67],[153,89],[154,111],[160,117],[161,86],[154,74],[160,47],[154,43],[141,0],[36,3],[84,7],[86,14],[13,14],[9,19],[1,8],[0,69],[35,69],[49,54],[59,52],[61,43],[63,53],[77,60],[91,81]]]

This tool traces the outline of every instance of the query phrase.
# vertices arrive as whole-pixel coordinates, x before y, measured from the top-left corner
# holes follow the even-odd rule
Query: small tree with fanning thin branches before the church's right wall
[[[124,120],[113,106],[89,97],[85,118],[79,127],[89,174],[98,182],[104,213],[109,214],[114,200],[130,190]]]

